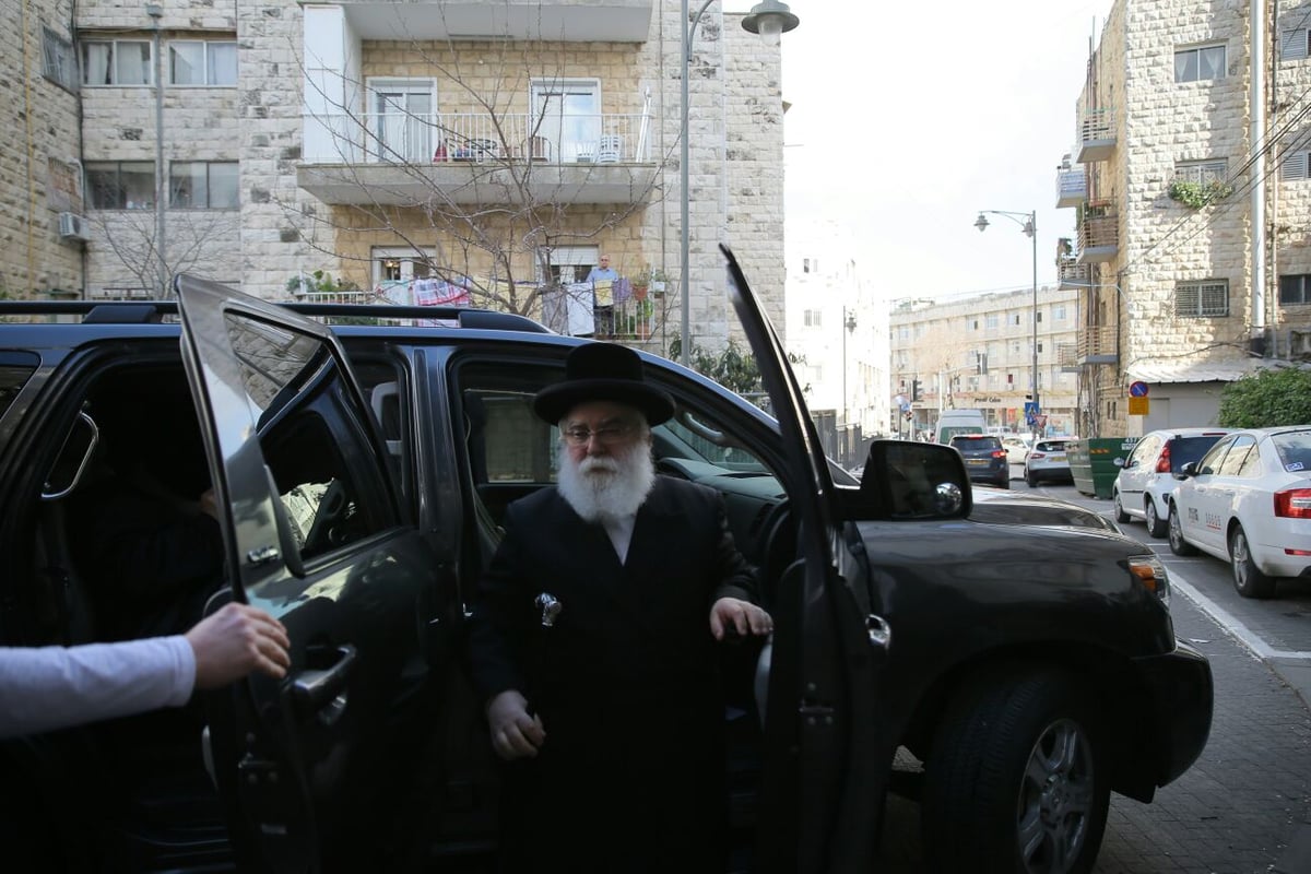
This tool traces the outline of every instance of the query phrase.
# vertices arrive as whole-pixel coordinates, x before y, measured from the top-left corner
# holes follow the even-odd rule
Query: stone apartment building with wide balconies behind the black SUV
[[[59,124],[7,147],[0,186],[34,221],[0,233],[39,237],[28,261],[47,274],[69,267],[29,279],[7,263],[20,290],[155,296],[194,273],[269,299],[451,299],[551,321],[577,301],[547,290],[606,254],[629,282],[591,301],[595,333],[657,350],[678,333],[678,4],[37,0],[24,16],[29,54],[54,41],[76,76],[21,68]],[[720,242],[783,324],[780,50],[714,3],[690,69],[690,321],[716,349],[735,322]],[[66,186],[80,202],[37,208],[59,178],[10,169],[43,145],[80,162],[84,185]]]

